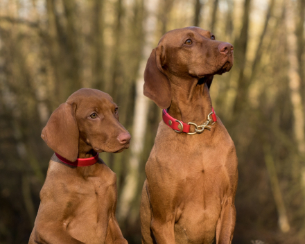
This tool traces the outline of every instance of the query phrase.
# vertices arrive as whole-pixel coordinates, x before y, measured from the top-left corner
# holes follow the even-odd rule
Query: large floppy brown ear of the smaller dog
[[[42,130],[42,139],[65,159],[75,162],[78,157],[79,131],[73,104],[62,103]]]

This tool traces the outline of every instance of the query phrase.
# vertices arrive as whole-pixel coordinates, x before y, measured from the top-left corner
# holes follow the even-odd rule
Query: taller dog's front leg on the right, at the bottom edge
[[[216,244],[231,244],[236,221],[234,202],[226,202],[216,225]]]

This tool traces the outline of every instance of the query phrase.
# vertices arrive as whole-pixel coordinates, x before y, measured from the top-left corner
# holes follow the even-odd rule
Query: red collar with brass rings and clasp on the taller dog
[[[164,123],[166,123],[166,125],[168,125],[173,130],[175,130],[175,132],[178,133],[181,132],[185,132],[188,134],[202,133],[204,128],[210,130],[211,126],[209,125],[214,125],[214,123],[216,123],[217,121],[217,117],[213,107],[212,107],[212,112],[209,113],[209,115],[207,116],[207,121],[205,121],[202,125],[196,125],[195,123],[192,122],[184,123],[182,121],[173,118],[171,115],[168,114],[168,112],[166,112],[166,110],[162,110],[162,111],[163,111],[162,118]],[[212,118],[210,116],[212,116]],[[189,132],[191,125],[195,126],[195,132]]]

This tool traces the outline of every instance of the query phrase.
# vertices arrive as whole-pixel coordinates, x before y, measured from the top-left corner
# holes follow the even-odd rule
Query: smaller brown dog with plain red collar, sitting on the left
[[[127,243],[115,216],[116,175],[96,155],[129,147],[130,134],[119,123],[117,110],[108,94],[84,88],[51,115],[42,139],[55,154],[40,192],[30,244]],[[97,162],[69,165],[77,158],[79,164]]]

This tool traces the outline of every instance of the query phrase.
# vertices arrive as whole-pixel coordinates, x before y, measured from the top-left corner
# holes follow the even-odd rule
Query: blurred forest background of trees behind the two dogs
[[[162,111],[143,97],[160,37],[200,26],[234,44],[211,98],[239,160],[233,243],[305,243],[305,0],[0,0],[0,243],[28,243],[53,152],[40,133],[81,87],[109,93],[132,134],[100,157],[118,176],[117,218],[141,242],[144,166]]]

